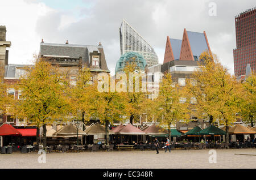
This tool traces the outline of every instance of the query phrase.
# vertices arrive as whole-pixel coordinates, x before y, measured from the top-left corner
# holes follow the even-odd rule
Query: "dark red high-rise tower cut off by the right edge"
[[[246,66],[256,71],[256,7],[235,16],[237,48],[234,49],[234,74],[245,75]]]

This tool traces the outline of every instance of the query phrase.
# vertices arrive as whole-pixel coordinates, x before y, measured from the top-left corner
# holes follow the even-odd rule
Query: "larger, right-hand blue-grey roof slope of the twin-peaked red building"
[[[187,31],[187,35],[192,54],[196,55],[199,59],[201,53],[203,53],[205,50],[209,50],[204,33]]]

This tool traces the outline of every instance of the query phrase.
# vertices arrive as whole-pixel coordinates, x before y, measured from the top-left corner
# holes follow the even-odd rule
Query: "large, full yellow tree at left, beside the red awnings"
[[[46,125],[67,117],[68,103],[65,96],[65,83],[57,67],[52,67],[44,59],[36,61],[35,67],[28,70],[16,85],[22,93],[22,100],[12,106],[19,118],[27,119],[37,127],[37,143],[39,128],[43,126],[43,145],[46,146]]]

